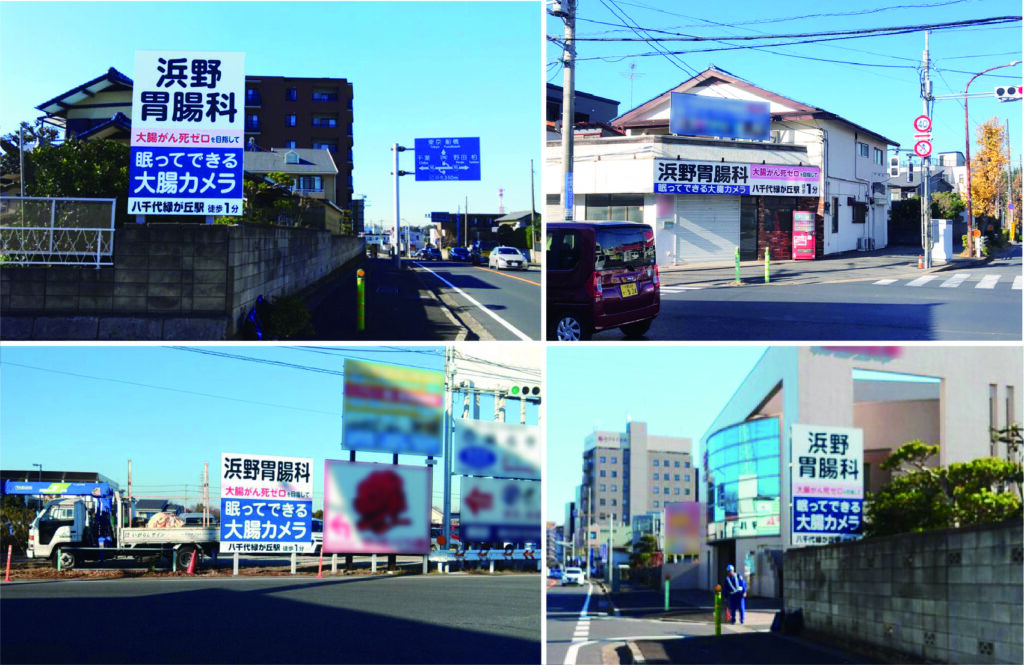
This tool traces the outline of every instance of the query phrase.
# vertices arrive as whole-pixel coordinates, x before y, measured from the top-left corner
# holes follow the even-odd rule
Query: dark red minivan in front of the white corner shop
[[[547,224],[548,339],[589,339],[650,329],[662,306],[654,231],[632,221]]]

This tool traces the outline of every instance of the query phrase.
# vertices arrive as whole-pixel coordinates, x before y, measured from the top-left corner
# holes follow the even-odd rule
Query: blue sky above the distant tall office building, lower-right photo
[[[547,366],[547,500],[544,518],[562,524],[583,477],[584,438],[626,431],[701,434],[764,354],[764,346],[551,346]]]

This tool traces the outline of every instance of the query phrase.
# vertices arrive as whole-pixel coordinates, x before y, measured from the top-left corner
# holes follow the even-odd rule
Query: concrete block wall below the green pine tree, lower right
[[[1019,522],[785,552],[783,600],[807,628],[945,663],[1024,662]]]

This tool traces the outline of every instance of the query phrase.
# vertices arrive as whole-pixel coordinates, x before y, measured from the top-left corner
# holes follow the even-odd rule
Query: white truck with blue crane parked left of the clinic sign
[[[48,502],[32,522],[27,548],[30,558],[50,558],[60,570],[86,560],[162,555],[185,568],[194,552],[199,563],[218,549],[218,527],[133,526],[134,501],[109,483],[7,481],[4,489],[6,494],[60,497]]]

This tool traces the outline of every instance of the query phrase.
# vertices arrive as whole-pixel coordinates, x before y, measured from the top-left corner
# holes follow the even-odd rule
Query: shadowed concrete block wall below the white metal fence
[[[114,265],[0,268],[3,339],[226,339],[256,301],[301,291],[364,251],[311,228],[119,228]]]

